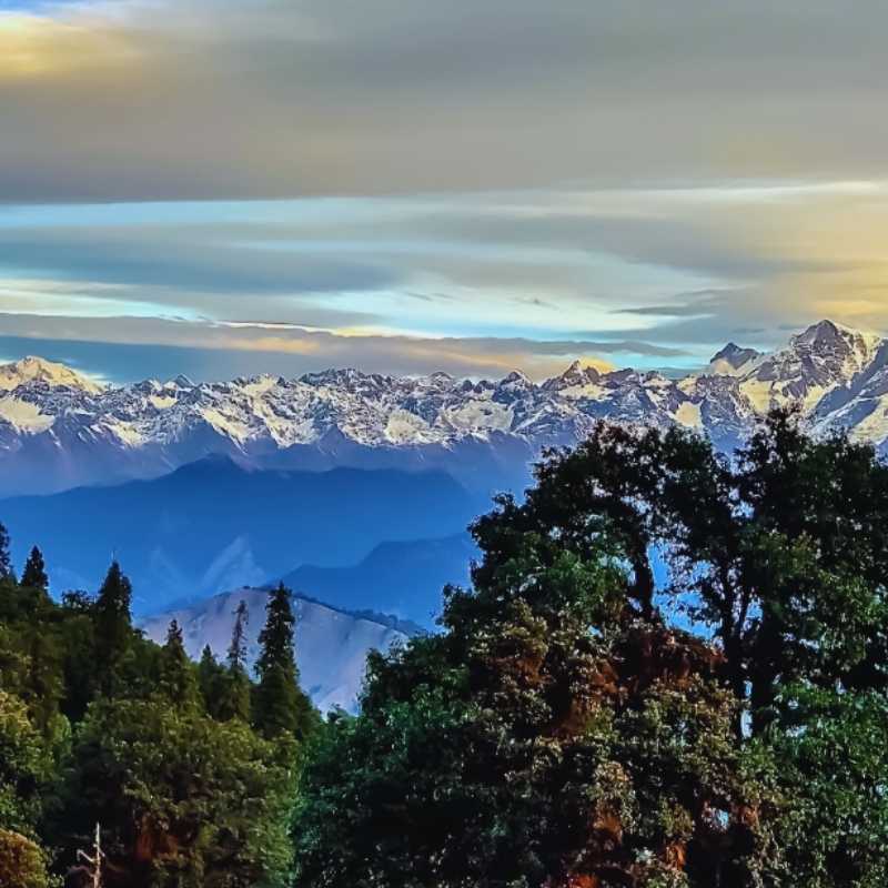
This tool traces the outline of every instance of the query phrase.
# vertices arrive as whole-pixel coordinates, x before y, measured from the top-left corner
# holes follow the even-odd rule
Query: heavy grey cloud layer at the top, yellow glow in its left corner
[[[118,0],[0,19],[0,198],[881,174],[858,0]]]

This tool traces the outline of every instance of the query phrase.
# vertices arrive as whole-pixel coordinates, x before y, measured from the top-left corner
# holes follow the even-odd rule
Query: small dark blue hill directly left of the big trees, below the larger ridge
[[[371,608],[430,626],[441,612],[442,589],[466,585],[477,556],[466,533],[442,539],[382,543],[351,567],[303,565],[283,577],[297,593],[350,609]]]

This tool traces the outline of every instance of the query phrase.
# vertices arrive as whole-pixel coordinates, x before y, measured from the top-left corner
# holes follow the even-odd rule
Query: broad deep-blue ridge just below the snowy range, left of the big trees
[[[260,586],[294,564],[356,564],[383,542],[454,534],[480,508],[443,472],[260,472],[210,457],[153,481],[6,500],[0,521],[18,563],[40,544],[56,593],[97,588],[118,557],[144,613]]]

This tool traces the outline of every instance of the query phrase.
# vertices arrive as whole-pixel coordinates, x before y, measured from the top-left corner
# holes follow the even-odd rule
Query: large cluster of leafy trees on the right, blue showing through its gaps
[[[785,413],[733,461],[601,425],[536,480],[475,523],[444,634],[373,657],[361,716],[325,729],[299,884],[884,885],[871,448]]]

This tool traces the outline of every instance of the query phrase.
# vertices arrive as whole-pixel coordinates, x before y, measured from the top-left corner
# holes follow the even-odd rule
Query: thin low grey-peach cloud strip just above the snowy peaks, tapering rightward
[[[69,317],[47,315],[0,315],[8,342],[6,354],[43,352],[53,357],[71,349],[87,350],[95,357],[91,367],[103,376],[132,380],[132,369],[119,357],[120,349],[135,349],[143,359],[154,351],[151,375],[175,375],[182,353],[189,353],[190,373],[201,379],[232,375],[232,367],[249,367],[250,373],[271,372],[296,375],[330,366],[359,366],[380,373],[423,374],[442,367],[455,375],[501,376],[524,369],[536,379],[558,373],[576,356],[585,363],[610,366],[597,355],[680,356],[684,353],[644,341],[535,341],[521,337],[441,337],[351,335],[321,330],[304,330],[284,324],[213,323],[171,321],[157,317]],[[109,349],[111,350],[109,352]],[[47,351],[49,350],[49,351]],[[82,354],[82,351],[80,352]],[[102,355],[114,360],[108,362]],[[178,354],[176,354],[178,353]],[[201,359],[198,353],[205,353]],[[173,354],[171,361],[169,355]],[[228,355],[224,369],[221,355]],[[249,359],[249,360],[248,360]],[[203,370],[195,364],[205,362]],[[158,372],[160,369],[160,372]],[[212,370],[212,372],[211,372]]]

